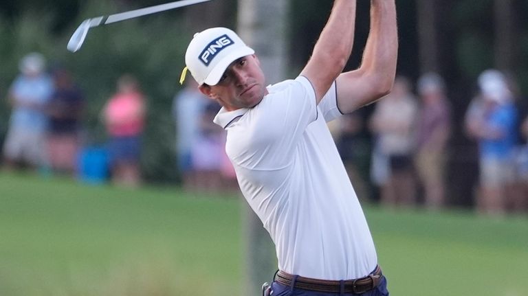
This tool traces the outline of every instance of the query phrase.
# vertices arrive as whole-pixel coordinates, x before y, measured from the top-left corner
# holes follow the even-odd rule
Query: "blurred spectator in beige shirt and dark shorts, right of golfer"
[[[386,205],[412,205],[416,186],[412,166],[412,135],[417,105],[410,83],[397,77],[391,94],[377,102],[371,129],[377,137],[375,151],[388,163],[388,175],[381,189]],[[376,156],[376,155],[375,155]]]

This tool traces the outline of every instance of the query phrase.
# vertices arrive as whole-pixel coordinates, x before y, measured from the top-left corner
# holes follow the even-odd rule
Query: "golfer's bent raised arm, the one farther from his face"
[[[371,0],[371,31],[362,64],[337,80],[342,113],[351,113],[391,91],[396,75],[397,35],[395,0]]]

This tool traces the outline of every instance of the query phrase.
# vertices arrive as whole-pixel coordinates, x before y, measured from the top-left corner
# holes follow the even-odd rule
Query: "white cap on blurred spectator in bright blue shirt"
[[[485,98],[498,104],[507,102],[511,95],[504,74],[495,69],[483,71],[478,76],[478,87]]]

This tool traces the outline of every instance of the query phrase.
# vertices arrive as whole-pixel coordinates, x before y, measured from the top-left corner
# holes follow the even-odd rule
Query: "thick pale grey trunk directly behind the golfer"
[[[266,83],[285,78],[286,0],[239,0],[238,33],[259,57]],[[245,281],[243,295],[261,295],[272,281],[276,256],[270,235],[249,207],[244,207]]]

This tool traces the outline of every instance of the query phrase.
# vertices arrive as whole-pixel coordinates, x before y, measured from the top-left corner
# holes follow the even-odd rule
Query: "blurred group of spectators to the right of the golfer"
[[[441,209],[450,205],[450,139],[456,129],[478,146],[478,212],[502,215],[528,212],[528,117],[518,110],[518,88],[505,75],[488,69],[478,76],[478,91],[455,126],[443,78],[437,73],[412,82],[397,77],[393,90],[368,116],[346,115],[331,125],[358,196],[369,196],[365,183],[379,189],[382,205]],[[362,126],[370,132],[369,174],[361,174]]]

